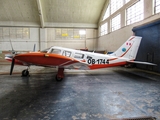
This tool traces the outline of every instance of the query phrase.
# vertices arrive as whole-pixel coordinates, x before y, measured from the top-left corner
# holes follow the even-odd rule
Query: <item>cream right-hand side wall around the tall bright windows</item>
[[[101,36],[97,41],[98,50],[107,50],[108,52],[117,50],[131,35],[133,35],[133,32],[132,32],[133,27],[139,26],[160,18],[160,13],[153,15],[152,0],[144,0],[144,20],[126,26],[125,25],[125,8],[131,6],[134,2],[135,0],[131,0],[128,4],[126,4],[124,7],[122,7],[120,10],[118,10],[116,13],[113,14],[113,16],[115,16],[116,14],[121,13],[122,28],[114,32],[109,32],[107,35]],[[113,16],[109,17],[107,20],[103,22],[100,22],[99,26],[105,22],[109,22],[108,24],[110,28],[110,19]]]

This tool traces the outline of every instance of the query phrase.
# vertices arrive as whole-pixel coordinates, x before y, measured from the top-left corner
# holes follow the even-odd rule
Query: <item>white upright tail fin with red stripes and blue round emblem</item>
[[[141,39],[142,37],[131,36],[117,51],[111,55],[134,60],[136,58]]]

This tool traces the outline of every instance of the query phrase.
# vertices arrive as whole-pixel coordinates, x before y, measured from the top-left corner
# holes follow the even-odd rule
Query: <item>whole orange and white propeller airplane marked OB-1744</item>
[[[64,69],[93,70],[114,66],[123,66],[129,63],[155,65],[148,62],[134,61],[142,37],[131,36],[117,51],[112,54],[98,54],[63,47],[50,47],[41,52],[14,54],[5,59],[12,62],[10,75],[14,64],[28,66],[58,67],[56,80],[64,78]],[[28,68],[22,71],[22,76],[28,76]]]

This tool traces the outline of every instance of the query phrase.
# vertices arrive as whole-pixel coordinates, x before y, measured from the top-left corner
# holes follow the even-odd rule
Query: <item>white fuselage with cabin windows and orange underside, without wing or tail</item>
[[[112,66],[125,65],[127,58],[113,55],[86,52],[81,50],[68,49],[63,47],[51,47],[47,54],[58,54],[76,59],[88,64],[90,69],[106,68]]]

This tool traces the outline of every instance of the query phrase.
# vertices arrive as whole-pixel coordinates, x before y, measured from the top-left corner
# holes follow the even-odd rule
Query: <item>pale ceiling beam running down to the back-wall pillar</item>
[[[40,17],[41,27],[44,28],[44,17],[43,17],[41,0],[37,0],[37,5],[38,5],[38,12]]]

